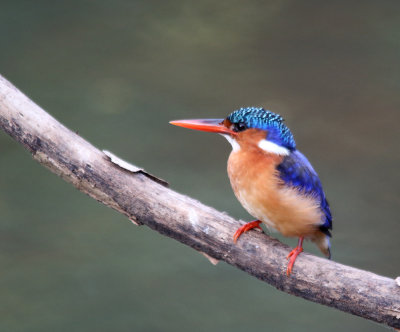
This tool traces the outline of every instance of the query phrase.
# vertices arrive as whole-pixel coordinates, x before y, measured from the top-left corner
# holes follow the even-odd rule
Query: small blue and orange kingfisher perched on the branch
[[[318,174],[296,148],[284,119],[264,108],[240,108],[225,119],[176,120],[173,125],[219,133],[232,145],[228,176],[242,206],[256,220],[237,229],[233,241],[263,223],[286,237],[298,238],[286,257],[292,273],[304,239],[331,258],[332,215]]]

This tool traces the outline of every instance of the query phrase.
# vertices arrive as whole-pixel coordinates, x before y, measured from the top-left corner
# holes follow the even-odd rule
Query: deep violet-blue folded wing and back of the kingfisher
[[[325,214],[325,221],[320,230],[331,236],[332,215],[326,200],[324,190],[317,172],[311,166],[307,158],[298,150],[286,156],[277,167],[280,178],[289,186],[298,188],[301,192],[314,196]]]

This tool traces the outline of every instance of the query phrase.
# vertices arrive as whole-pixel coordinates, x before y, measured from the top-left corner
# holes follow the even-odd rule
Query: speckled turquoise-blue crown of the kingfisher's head
[[[245,107],[232,112],[227,119],[239,128],[238,131],[248,128],[266,130],[268,141],[292,151],[296,149],[293,135],[279,114],[260,107]]]

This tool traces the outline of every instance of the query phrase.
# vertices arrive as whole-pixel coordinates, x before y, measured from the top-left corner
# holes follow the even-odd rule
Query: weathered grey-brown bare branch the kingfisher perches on
[[[168,189],[143,170],[117,165],[2,76],[0,127],[80,191],[214,263],[223,260],[289,294],[400,328],[400,286],[395,280],[307,253],[287,277],[288,246],[259,232],[249,232],[245,241],[234,244],[239,221]]]

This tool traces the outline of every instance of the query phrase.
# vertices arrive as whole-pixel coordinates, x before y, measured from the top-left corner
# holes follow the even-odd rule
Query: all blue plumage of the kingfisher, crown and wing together
[[[283,123],[283,118],[276,113],[258,107],[240,108],[232,112],[228,118],[231,123],[244,124],[246,128],[258,128],[267,131],[266,139],[289,149],[277,166],[280,178],[288,186],[297,188],[300,192],[313,196],[319,203],[325,220],[322,220],[320,230],[330,236],[332,215],[326,200],[318,174],[307,158],[298,150],[289,128]]]

